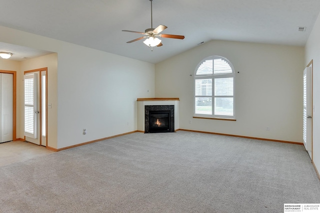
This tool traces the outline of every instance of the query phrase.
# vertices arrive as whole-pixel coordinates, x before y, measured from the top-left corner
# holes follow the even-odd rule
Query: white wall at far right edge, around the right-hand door
[[[313,163],[320,172],[320,15],[305,45],[305,65],[313,59]]]

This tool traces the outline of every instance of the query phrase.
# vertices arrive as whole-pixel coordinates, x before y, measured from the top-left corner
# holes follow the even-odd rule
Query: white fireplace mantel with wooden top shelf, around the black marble
[[[179,129],[179,98],[137,98],[137,131],[145,130],[144,106],[173,105],[174,106],[174,130]]]

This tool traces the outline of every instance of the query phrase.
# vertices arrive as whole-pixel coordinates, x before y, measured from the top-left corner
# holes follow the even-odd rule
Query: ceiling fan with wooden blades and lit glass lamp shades
[[[156,28],[153,28],[153,26],[152,26],[152,0],[149,0],[149,1],[151,1],[151,28],[145,29],[144,32],[137,32],[137,31],[131,31],[131,30],[122,30],[124,32],[134,32],[134,33],[139,33],[139,34],[144,35],[142,37],[130,40],[127,43],[132,43],[133,41],[137,41],[137,40],[141,40],[143,38],[146,38],[143,41],[143,43],[146,44],[149,47],[153,47],[153,46],[162,46],[161,40],[159,38],[157,38],[157,37],[183,39],[184,38],[183,35],[159,34],[164,29],[167,28],[164,25],[160,24]],[[152,51],[152,48],[151,48],[151,51]]]

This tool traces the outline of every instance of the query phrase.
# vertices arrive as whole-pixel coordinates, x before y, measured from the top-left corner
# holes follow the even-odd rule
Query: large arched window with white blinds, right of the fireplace
[[[204,58],[194,74],[194,117],[234,120],[234,77],[226,58]]]

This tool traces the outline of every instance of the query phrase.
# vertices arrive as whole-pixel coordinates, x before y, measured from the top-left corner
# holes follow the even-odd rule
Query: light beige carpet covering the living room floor
[[[301,145],[133,133],[0,167],[1,213],[282,213],[320,203]]]

